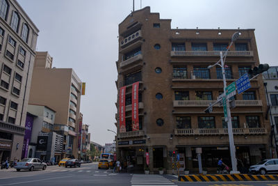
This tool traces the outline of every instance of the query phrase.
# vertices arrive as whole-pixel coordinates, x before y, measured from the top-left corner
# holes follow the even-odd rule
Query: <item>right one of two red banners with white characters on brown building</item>
[[[139,82],[132,84],[132,130],[139,130],[138,118],[138,88]]]

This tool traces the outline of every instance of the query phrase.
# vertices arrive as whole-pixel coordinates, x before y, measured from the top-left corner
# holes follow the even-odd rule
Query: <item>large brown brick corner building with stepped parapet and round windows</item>
[[[259,65],[254,29],[171,29],[171,20],[146,7],[119,25],[117,98],[117,157],[137,169],[146,165],[172,173],[172,157],[179,153],[181,170],[215,170],[219,157],[231,165],[223,107],[204,112],[223,93],[221,68],[215,65],[236,31],[240,37],[227,53],[227,85]],[[236,157],[245,166],[270,157],[270,123],[261,75],[251,88],[237,94],[231,109]],[[138,97],[137,97],[138,96]],[[200,152],[200,151],[199,151]],[[198,152],[198,153],[199,153]]]

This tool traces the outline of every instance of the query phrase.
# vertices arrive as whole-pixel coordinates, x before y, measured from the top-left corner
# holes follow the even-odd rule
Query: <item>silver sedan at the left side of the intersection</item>
[[[17,169],[17,171],[20,171],[21,169],[28,169],[29,171],[42,169],[44,171],[47,169],[47,164],[40,161],[38,158],[24,158],[20,162],[17,162],[15,169]]]

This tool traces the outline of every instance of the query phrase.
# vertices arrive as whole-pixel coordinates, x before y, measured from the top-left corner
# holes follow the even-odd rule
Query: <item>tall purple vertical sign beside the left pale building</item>
[[[22,148],[22,158],[27,157],[28,153],[28,144],[31,140],[31,134],[32,134],[32,127],[33,127],[33,116],[26,115],[26,122],[25,122],[25,135],[24,135],[24,142],[23,142],[23,148]]]

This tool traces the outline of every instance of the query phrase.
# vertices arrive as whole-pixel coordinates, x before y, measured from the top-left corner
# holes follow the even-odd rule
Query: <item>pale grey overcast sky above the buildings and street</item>
[[[48,51],[53,67],[73,68],[86,92],[81,98],[83,123],[91,141],[114,139],[117,100],[118,24],[131,13],[133,0],[18,0],[40,29],[37,50]],[[142,0],[161,19],[179,29],[256,29],[261,63],[278,65],[277,0]],[[140,9],[140,0],[135,0]]]

